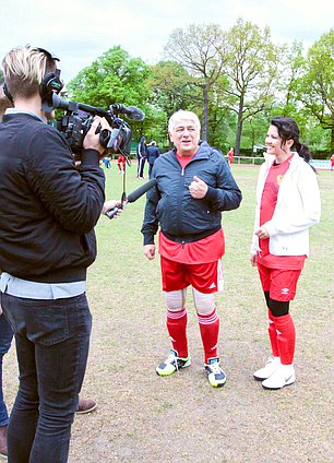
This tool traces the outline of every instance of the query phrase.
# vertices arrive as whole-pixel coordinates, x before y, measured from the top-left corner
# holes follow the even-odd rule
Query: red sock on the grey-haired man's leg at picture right
[[[208,359],[217,357],[219,319],[216,308],[208,316],[198,313],[201,337],[204,348],[204,363],[208,364]]]

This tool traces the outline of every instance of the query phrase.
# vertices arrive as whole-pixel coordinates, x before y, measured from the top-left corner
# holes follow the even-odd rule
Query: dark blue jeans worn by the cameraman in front
[[[92,329],[86,296],[2,294],[15,334],[20,384],[8,426],[9,463],[65,463]]]

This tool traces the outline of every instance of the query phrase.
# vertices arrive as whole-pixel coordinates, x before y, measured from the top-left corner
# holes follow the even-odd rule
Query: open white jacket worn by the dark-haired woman
[[[265,154],[257,187],[254,232],[260,228],[260,205],[269,170],[275,156]],[[297,153],[279,186],[277,204],[271,221],[263,224],[270,235],[270,252],[274,256],[309,256],[309,227],[320,221],[321,202],[317,175]],[[260,251],[253,235],[251,253]]]

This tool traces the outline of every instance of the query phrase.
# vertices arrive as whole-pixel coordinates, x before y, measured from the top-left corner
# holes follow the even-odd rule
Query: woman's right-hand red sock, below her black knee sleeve
[[[281,363],[282,365],[291,365],[296,344],[294,320],[289,313],[283,317],[273,317],[273,319],[277,332]]]

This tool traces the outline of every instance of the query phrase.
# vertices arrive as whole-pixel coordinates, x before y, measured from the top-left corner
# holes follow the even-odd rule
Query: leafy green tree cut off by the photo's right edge
[[[331,130],[334,153],[334,29],[310,47],[299,79],[297,98],[323,129]]]

